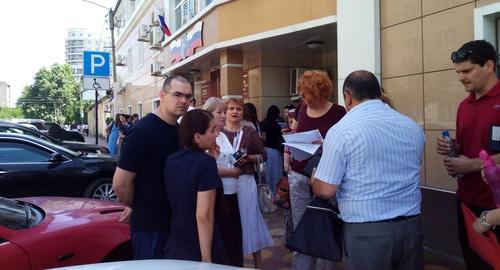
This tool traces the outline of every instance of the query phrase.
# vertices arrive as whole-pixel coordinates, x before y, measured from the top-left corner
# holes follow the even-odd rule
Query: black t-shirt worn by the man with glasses
[[[163,185],[163,166],[177,150],[177,126],[167,124],[153,113],[128,132],[118,167],[137,173],[130,221],[133,232],[168,233],[170,209]]]

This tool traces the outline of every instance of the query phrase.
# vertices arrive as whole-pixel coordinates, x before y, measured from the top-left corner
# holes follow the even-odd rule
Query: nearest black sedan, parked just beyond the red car
[[[84,155],[27,135],[0,133],[0,196],[117,200],[117,158]]]

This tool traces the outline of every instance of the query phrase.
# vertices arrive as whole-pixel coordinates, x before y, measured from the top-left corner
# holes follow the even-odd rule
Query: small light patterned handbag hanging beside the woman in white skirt
[[[255,173],[257,177],[257,196],[259,201],[259,209],[262,213],[267,214],[276,210],[274,205],[274,195],[271,187],[264,183],[266,175],[265,163],[260,155],[257,155],[255,163]]]

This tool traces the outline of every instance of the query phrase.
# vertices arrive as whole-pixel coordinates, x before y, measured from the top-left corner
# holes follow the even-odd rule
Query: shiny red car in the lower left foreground
[[[125,206],[64,197],[0,197],[0,269],[46,269],[132,258]]]

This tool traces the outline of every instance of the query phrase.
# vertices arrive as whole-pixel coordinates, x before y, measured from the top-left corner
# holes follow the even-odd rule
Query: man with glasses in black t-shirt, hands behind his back
[[[127,209],[121,221],[130,220],[135,259],[163,258],[170,230],[163,167],[179,149],[177,119],[193,99],[191,84],[181,76],[170,77],[159,96],[160,106],[127,134],[113,177],[118,198],[133,210]]]

